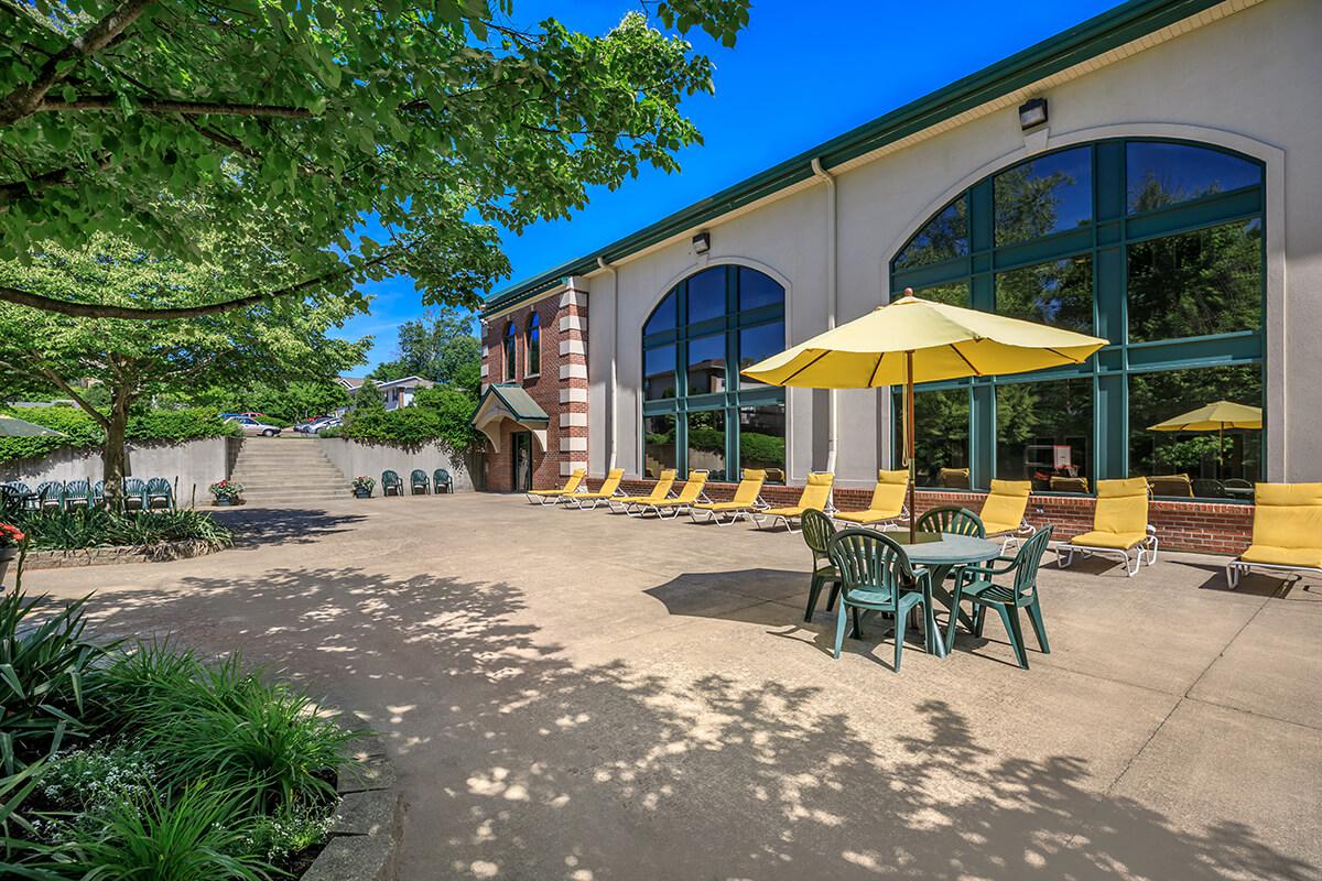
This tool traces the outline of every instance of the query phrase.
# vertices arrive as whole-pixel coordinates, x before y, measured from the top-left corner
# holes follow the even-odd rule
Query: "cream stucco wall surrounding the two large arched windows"
[[[838,321],[888,299],[888,263],[945,201],[974,181],[1071,143],[1153,136],[1202,140],[1261,159],[1266,180],[1266,404],[1272,481],[1322,479],[1322,3],[1266,0],[1198,30],[1040,92],[1046,131],[1025,135],[1014,110],[966,123],[837,177]],[[641,326],[678,280],[718,263],[743,263],[780,280],[788,293],[787,342],[826,329],[826,188],[806,182],[789,195],[710,225],[711,251],[681,242],[616,265],[588,281],[594,297],[590,362],[591,468],[609,449],[607,387],[619,342],[617,462],[640,470]],[[604,295],[598,297],[598,293]],[[826,395],[788,392],[791,479],[825,466]],[[862,486],[884,461],[884,392],[838,395],[837,476]],[[598,417],[598,416],[602,417]]]

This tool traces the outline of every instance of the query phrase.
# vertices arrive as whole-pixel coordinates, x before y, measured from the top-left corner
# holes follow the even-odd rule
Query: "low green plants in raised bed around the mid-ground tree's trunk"
[[[34,551],[78,551],[134,546],[151,548],[164,542],[208,542],[229,547],[234,534],[206,511],[110,511],[104,509],[48,509],[20,511],[9,522],[28,534]]]

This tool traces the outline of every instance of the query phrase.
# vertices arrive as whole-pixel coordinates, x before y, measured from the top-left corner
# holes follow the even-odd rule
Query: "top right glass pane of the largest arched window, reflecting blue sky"
[[[1263,182],[1263,169],[1237,156],[1191,144],[1132,141],[1125,145],[1129,213],[1227,193]]]

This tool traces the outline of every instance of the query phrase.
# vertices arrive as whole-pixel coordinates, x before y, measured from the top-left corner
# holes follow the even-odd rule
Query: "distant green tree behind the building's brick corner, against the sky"
[[[399,325],[399,351],[370,376],[381,382],[422,376],[460,388],[475,398],[481,383],[483,343],[473,334],[473,316],[455,306],[430,310]]]

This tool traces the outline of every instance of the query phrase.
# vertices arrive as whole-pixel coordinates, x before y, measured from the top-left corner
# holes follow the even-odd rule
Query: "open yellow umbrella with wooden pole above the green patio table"
[[[772,386],[806,388],[903,384],[912,542],[914,383],[1079,365],[1105,345],[1105,339],[1072,330],[920,300],[906,288],[899,300],[742,372]]]

